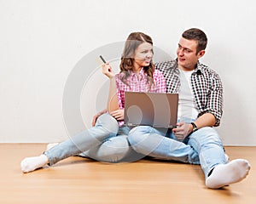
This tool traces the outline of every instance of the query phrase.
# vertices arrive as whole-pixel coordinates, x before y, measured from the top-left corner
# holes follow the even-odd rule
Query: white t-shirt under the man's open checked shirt
[[[183,121],[183,118],[196,119],[199,111],[195,103],[191,85],[191,74],[193,71],[179,71],[181,86],[178,90],[177,119],[179,121]]]

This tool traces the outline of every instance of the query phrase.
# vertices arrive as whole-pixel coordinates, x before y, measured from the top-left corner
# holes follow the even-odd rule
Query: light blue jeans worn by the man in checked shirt
[[[206,178],[213,167],[225,163],[223,144],[213,127],[202,127],[178,141],[170,130],[140,126],[130,131],[128,140],[134,150],[145,156],[201,164]]]

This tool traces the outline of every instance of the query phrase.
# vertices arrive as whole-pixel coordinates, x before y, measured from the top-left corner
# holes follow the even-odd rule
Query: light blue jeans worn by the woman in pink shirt
[[[100,116],[96,126],[67,139],[44,152],[53,165],[69,156],[85,153],[98,161],[118,162],[126,157],[140,156],[131,149],[127,135],[129,127],[119,127],[118,122],[108,113]]]

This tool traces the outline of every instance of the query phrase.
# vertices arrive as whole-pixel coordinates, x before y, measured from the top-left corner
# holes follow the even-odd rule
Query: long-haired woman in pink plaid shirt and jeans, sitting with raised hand
[[[40,156],[25,158],[20,163],[21,171],[29,173],[81,153],[107,162],[129,161],[132,156],[138,156],[127,140],[131,127],[124,125],[125,91],[166,92],[166,81],[161,72],[154,69],[152,58],[151,37],[132,32],[125,41],[119,74],[114,75],[108,63],[102,65],[102,72],[110,78],[108,113],[99,116],[94,127],[55,145]]]

